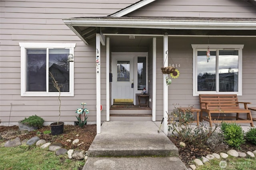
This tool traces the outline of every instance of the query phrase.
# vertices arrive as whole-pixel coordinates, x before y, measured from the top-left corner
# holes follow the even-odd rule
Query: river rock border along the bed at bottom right
[[[194,164],[190,164],[189,165],[189,168],[188,170],[196,170],[196,168],[198,166],[203,166],[205,162],[209,162],[210,160],[212,159],[221,159],[221,158],[228,158],[228,156],[234,156],[234,157],[250,157],[250,158],[255,158],[256,156],[256,150],[254,150],[253,152],[246,152],[246,153],[243,153],[243,152],[237,152],[236,150],[228,150],[227,153],[224,153],[224,152],[220,152],[220,154],[217,154],[217,153],[212,153],[212,154],[208,154],[206,155],[205,157],[202,156],[201,159],[198,159],[196,158],[194,160]]]

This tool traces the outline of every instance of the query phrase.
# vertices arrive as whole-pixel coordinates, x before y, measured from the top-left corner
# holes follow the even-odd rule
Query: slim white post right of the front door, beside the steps
[[[153,38],[152,121],[156,121],[156,37]]]

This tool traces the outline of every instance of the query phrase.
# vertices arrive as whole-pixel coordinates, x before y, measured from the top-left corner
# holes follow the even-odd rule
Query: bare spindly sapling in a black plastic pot
[[[58,84],[58,82],[56,81],[56,79],[54,78],[54,76],[52,75],[51,72],[49,72],[49,75],[52,78],[53,86],[58,91],[58,103],[59,103],[59,118],[58,118],[57,122],[53,122],[53,123],[50,124],[51,134],[52,135],[60,135],[64,131],[64,122],[60,121],[60,107],[61,107],[61,100],[60,100],[61,92],[60,92],[60,89],[62,88],[62,84]]]

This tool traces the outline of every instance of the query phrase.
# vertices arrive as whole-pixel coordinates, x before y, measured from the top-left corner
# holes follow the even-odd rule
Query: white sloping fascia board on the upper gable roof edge
[[[147,4],[150,4],[151,2],[154,2],[155,0],[142,0],[140,2],[137,2],[131,6],[128,6],[127,8],[124,8],[114,14],[111,14],[110,16],[111,17],[122,17],[126,14],[129,14],[130,12],[133,12],[135,10],[138,10],[139,8],[147,5]]]

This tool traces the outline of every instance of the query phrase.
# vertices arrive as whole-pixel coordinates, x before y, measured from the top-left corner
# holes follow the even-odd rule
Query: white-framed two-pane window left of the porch
[[[75,44],[20,43],[21,96],[56,96],[60,86],[61,96],[74,96],[74,64],[68,55]]]

